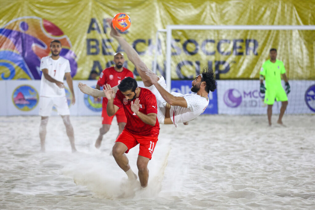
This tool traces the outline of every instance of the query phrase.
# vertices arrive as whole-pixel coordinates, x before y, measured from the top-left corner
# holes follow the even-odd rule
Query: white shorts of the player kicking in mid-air
[[[158,83],[165,89],[167,92],[169,92],[165,79],[163,76],[158,76],[160,78],[158,80]],[[158,92],[157,88],[154,85],[151,85],[150,87],[146,87],[147,89],[151,90],[151,92],[155,95],[157,98],[157,120],[160,124],[164,124],[164,119],[165,119],[165,106],[166,106],[166,101],[163,99],[161,96],[160,92]]]

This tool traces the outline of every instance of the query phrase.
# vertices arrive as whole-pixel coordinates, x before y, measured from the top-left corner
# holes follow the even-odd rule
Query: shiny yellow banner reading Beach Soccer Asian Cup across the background
[[[88,79],[113,65],[121,51],[109,36],[106,17],[127,13],[123,36],[153,68],[155,35],[167,25],[315,25],[315,1],[135,0],[11,1],[0,8],[0,79],[40,79],[40,59],[59,39],[74,79]],[[188,79],[210,67],[221,79],[257,79],[269,49],[277,48],[289,79],[315,79],[314,31],[178,30],[172,34],[172,79]],[[165,70],[166,41],[160,33],[158,74]],[[125,67],[134,71],[127,60]]]

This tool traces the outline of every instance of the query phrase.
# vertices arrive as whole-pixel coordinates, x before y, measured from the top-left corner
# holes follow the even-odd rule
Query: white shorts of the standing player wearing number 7
[[[59,115],[70,115],[70,110],[66,96],[62,97],[46,97],[39,98],[39,115],[50,116],[53,106],[56,107]]]

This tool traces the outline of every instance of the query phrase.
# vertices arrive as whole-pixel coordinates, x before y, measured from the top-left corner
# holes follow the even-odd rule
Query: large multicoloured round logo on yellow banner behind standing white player
[[[77,72],[76,54],[67,35],[52,22],[39,17],[20,17],[0,29],[0,80],[40,79],[40,60],[48,56],[50,42],[60,40],[60,56],[70,62],[71,76]]]

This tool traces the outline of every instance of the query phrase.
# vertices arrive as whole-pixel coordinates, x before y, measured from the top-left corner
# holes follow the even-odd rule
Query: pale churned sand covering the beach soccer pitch
[[[49,118],[41,153],[39,116],[0,117],[1,209],[314,209],[315,117],[203,115],[161,125],[148,187],[130,183],[110,151],[116,119],[100,149],[100,117],[71,116],[71,153],[59,116]],[[139,147],[127,154],[137,173]],[[139,179],[138,179],[139,180]]]

